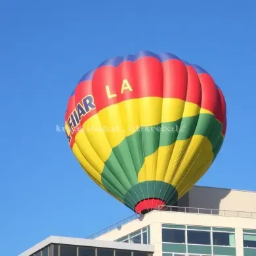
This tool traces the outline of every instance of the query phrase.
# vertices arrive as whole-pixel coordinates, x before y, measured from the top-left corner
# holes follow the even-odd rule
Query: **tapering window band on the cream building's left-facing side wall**
[[[150,244],[150,226],[137,230],[127,236],[123,236],[116,242],[131,243],[131,244]]]

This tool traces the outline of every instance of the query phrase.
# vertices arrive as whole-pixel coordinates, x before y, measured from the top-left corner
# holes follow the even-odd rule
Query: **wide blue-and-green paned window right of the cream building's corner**
[[[234,228],[162,224],[162,242],[163,256],[236,255]]]

